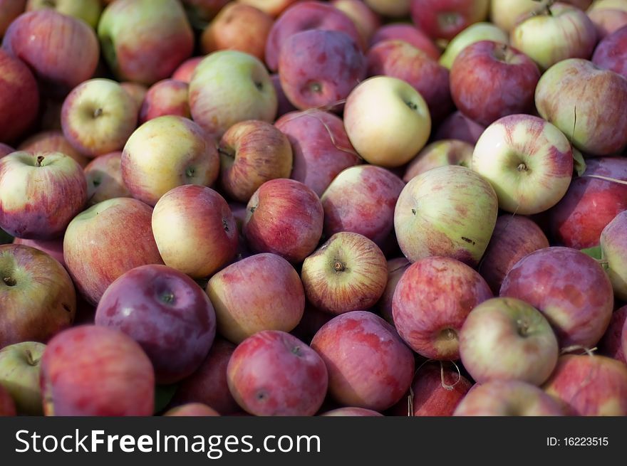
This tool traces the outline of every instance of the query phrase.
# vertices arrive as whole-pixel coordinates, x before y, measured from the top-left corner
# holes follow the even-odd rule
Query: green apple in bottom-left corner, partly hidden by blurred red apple
[[[46,345],[38,341],[22,341],[0,349],[0,386],[9,392],[20,414],[43,414],[39,363],[45,349]]]

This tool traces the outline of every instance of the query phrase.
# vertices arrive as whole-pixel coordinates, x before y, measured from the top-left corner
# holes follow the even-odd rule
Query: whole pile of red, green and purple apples
[[[0,37],[0,415],[627,415],[627,0]]]

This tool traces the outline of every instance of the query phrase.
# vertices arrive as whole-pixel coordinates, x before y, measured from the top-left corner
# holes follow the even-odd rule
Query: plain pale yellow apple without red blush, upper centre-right
[[[425,99],[409,83],[375,76],[348,95],[344,127],[363,159],[393,168],[407,163],[425,147],[431,117]]]

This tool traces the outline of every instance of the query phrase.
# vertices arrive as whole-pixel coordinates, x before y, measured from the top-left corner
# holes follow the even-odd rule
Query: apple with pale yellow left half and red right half
[[[167,191],[152,212],[152,233],[165,265],[192,278],[212,275],[237,251],[233,214],[227,201],[207,186]]]

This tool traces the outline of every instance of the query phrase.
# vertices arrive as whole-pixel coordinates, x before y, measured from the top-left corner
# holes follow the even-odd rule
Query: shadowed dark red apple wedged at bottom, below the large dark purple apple
[[[227,366],[235,346],[230,341],[216,336],[209,354],[194,374],[180,381],[170,406],[187,403],[204,403],[221,415],[241,410],[229,391]]]

